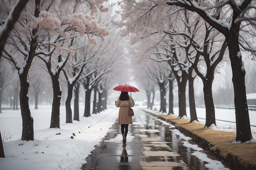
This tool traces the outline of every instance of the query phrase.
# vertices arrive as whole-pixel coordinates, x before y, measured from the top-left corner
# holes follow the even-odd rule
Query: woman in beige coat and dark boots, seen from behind
[[[121,124],[123,144],[126,144],[128,126],[129,124],[132,124],[132,117],[128,115],[129,105],[133,107],[135,105],[135,102],[132,99],[132,97],[128,95],[128,92],[122,91],[120,97],[118,97],[117,101],[115,101],[115,105],[117,107],[120,107],[118,115],[118,124]]]

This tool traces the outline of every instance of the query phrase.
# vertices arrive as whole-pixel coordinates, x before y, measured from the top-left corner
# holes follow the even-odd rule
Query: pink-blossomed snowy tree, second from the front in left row
[[[63,8],[67,8],[65,4],[58,5],[63,5]],[[50,128],[60,128],[59,115],[62,91],[60,88],[59,75],[70,55],[74,55],[76,49],[83,48],[83,46],[77,46],[76,48],[73,48],[73,46],[80,37],[85,37],[88,42],[96,46],[98,42],[94,36],[105,41],[104,37],[111,33],[106,27],[103,27],[98,23],[95,16],[86,13],[74,13],[74,11],[82,11],[82,8],[85,7],[85,5],[86,4],[81,5],[80,3],[75,2],[74,9],[70,9],[70,13],[66,12],[69,11],[67,9],[65,9],[65,11],[63,11],[63,9],[60,9],[59,11],[54,10],[56,14],[43,12],[42,17],[37,21],[39,26],[48,28],[51,32],[55,33],[55,36],[52,36],[51,32],[48,31],[48,38],[45,39],[47,41],[42,42],[44,46],[40,49],[40,55],[38,55],[38,57],[45,62],[49,75],[52,78],[53,102]],[[108,8],[103,10],[103,6],[99,5],[99,9],[106,12]],[[96,12],[94,10],[95,9],[92,6],[91,14]],[[63,17],[63,20],[62,18],[57,17],[62,15],[65,16]],[[67,51],[67,53],[63,53],[64,51]],[[57,56],[58,60],[55,60],[54,56]],[[76,81],[77,79],[78,77],[75,78]]]

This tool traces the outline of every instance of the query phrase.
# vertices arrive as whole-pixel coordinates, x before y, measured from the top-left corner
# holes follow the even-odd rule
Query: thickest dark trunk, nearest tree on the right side
[[[232,82],[234,86],[234,102],[236,110],[236,141],[249,141],[252,139],[249,112],[245,90],[245,69],[238,44],[239,27],[231,29],[229,58],[232,68]]]

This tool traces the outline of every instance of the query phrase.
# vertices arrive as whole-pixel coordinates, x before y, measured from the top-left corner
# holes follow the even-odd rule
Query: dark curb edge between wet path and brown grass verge
[[[171,119],[165,119],[164,117],[150,113],[147,110],[144,110],[144,109],[141,109],[141,110],[148,113],[149,115],[157,117],[158,119],[171,123],[173,126],[175,126],[177,130],[180,130],[185,135],[191,137],[194,141],[196,141],[196,143],[200,144],[200,146],[210,151],[211,153],[217,155],[218,157],[222,158],[234,170],[256,170],[256,164],[251,164],[250,162],[243,161],[241,157],[232,155],[230,153],[224,152],[225,153],[224,154],[222,150],[218,148],[218,146],[212,144],[211,141],[208,141],[207,139],[202,138],[200,135],[196,135],[195,133],[191,132],[189,129],[186,129],[182,126],[177,125],[177,122],[172,121]],[[255,152],[255,155],[256,155],[256,152]],[[256,160],[254,160],[254,162],[256,162]]]

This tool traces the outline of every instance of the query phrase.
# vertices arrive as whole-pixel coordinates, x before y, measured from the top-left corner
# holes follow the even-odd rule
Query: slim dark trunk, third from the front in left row
[[[72,110],[71,110],[71,100],[73,96],[73,84],[67,84],[67,99],[65,102],[66,105],[66,123],[72,122]]]

